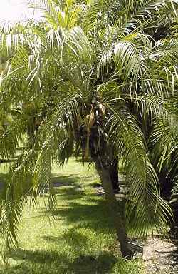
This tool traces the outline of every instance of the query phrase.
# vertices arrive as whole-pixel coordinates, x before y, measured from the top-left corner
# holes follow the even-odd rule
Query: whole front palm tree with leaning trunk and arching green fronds
[[[147,235],[149,228],[163,228],[171,214],[159,196],[146,129],[149,119],[152,127],[174,116],[177,41],[168,37],[155,43],[147,29],[174,17],[174,1],[51,0],[41,1],[41,10],[43,22],[18,24],[11,34],[1,34],[2,49],[12,56],[1,100],[19,110],[22,135],[33,119],[33,141],[26,140],[1,198],[5,244],[16,243],[29,174],[33,197],[48,184],[48,208],[54,210],[52,161],[63,164],[80,147],[100,175],[122,256],[131,258],[128,224],[137,235]],[[151,140],[156,148],[157,139]],[[126,220],[110,176],[117,157],[126,163],[130,187]]]

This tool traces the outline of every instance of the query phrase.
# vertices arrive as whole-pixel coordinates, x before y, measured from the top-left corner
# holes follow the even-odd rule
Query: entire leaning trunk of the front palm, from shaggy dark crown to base
[[[127,259],[132,258],[132,251],[128,246],[128,238],[125,230],[125,222],[120,214],[120,210],[117,206],[117,200],[115,198],[114,188],[112,186],[112,179],[110,166],[117,166],[114,164],[113,157],[114,151],[112,146],[108,144],[107,136],[105,132],[105,107],[98,103],[100,98],[98,97],[97,91],[93,92],[92,99],[92,113],[93,113],[93,123],[90,126],[90,139],[89,139],[89,150],[90,156],[95,162],[96,169],[103,183],[103,188],[105,191],[105,198],[108,203],[108,208],[110,210],[110,216],[112,216],[112,221],[115,224],[115,229],[117,232],[117,238],[120,242],[120,251],[122,257]],[[102,108],[102,111],[101,111]],[[103,111],[104,108],[104,111]],[[90,112],[91,113],[91,112]],[[90,114],[91,118],[91,114]],[[89,123],[88,123],[89,128]],[[81,141],[86,141],[85,128],[81,127],[80,136]],[[86,131],[88,133],[88,130]],[[85,142],[86,144],[86,142]],[[86,145],[85,145],[86,150]],[[113,168],[112,166],[112,168]],[[117,176],[118,179],[118,176]]]

